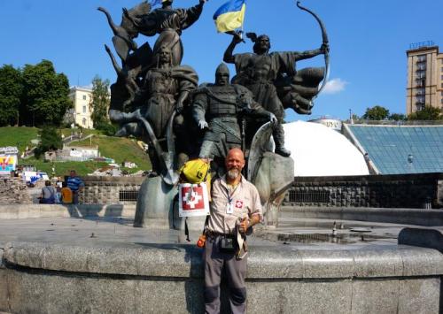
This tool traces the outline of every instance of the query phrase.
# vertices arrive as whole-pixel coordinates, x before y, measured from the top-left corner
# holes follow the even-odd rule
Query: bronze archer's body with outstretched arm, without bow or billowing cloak
[[[223,60],[236,65],[237,76],[233,82],[250,89],[253,92],[254,100],[276,115],[278,123],[274,126],[273,131],[276,153],[288,157],[291,152],[284,148],[284,129],[281,125],[284,120],[284,105],[277,93],[276,85],[281,80],[296,76],[295,64],[297,61],[323,54],[329,48],[323,44],[318,50],[269,53],[271,45],[268,35],[257,36],[248,33],[247,36],[254,42],[253,53],[233,55],[237,44],[242,42],[242,38],[236,33],[224,53]],[[291,81],[284,85],[290,85],[290,83]]]

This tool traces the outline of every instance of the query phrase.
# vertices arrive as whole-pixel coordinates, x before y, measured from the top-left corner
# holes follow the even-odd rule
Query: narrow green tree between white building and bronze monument
[[[92,80],[92,97],[89,103],[90,118],[97,129],[103,129],[110,125],[108,108],[110,102],[109,80],[102,80],[98,75]]]

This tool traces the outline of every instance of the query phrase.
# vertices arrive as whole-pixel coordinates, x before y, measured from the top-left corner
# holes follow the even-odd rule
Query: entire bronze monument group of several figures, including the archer
[[[104,8],[98,9],[113,29],[113,44],[121,61],[119,65],[105,46],[118,75],[111,86],[109,117],[120,124],[116,135],[133,135],[149,144],[152,161],[153,172],[139,191],[134,226],[171,226],[180,164],[198,156],[213,159],[214,170],[220,174],[223,163],[218,161],[231,148],[245,151],[248,180],[258,187],[268,223],[275,224],[277,209],[293,180],[291,152],[284,149],[284,108],[310,114],[313,99],[326,83],[323,78],[329,69],[329,43],[325,27],[314,12],[298,3],[322,28],[320,49],[269,53],[268,36],[249,33],[253,53],[233,55],[242,41],[233,31],[224,54],[224,60],[237,68],[232,84],[227,65],[221,64],[215,83],[197,88],[197,73],[181,65],[180,36],[199,19],[205,2],[198,0],[189,9],[173,9],[173,0],[162,0],[162,7],[151,11],[152,4],[144,1],[130,10],[123,9],[120,26]],[[138,34],[159,37],[153,49],[149,42],[137,47],[134,39]],[[325,57],[326,71],[296,71],[297,61],[320,54]],[[271,134],[276,154],[272,152]],[[177,227],[173,220],[172,226]]]

